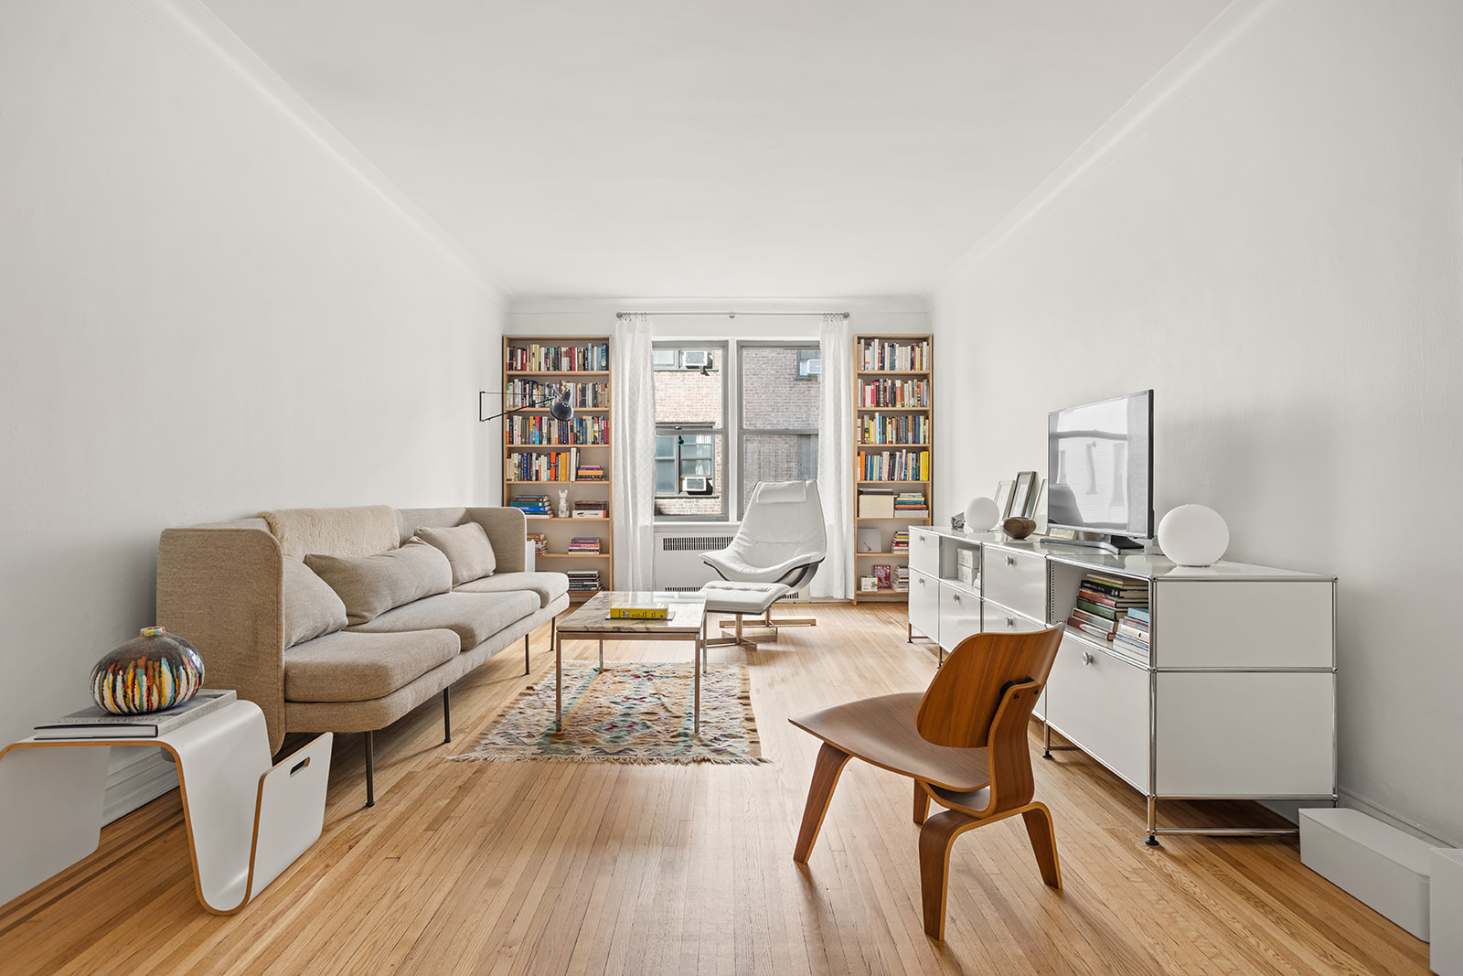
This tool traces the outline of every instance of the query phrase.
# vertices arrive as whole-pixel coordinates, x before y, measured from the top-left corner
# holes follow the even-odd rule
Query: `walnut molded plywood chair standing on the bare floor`
[[[844,764],[859,757],[914,780],[925,934],[945,938],[945,888],[955,837],[1020,814],[1042,881],[1062,887],[1052,815],[1031,797],[1027,721],[1056,660],[1062,628],[976,634],[951,651],[923,695],[865,698],[790,721],[824,740],[793,860],[808,863]],[[948,809],[929,814],[935,800]]]

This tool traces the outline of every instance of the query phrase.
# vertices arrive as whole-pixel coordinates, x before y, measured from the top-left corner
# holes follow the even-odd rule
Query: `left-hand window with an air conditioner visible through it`
[[[726,518],[726,342],[657,342],[655,515]]]

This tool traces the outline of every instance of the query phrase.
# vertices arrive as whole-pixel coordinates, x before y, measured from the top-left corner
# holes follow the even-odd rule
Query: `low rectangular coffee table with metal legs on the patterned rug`
[[[622,603],[664,603],[664,620],[610,619],[610,606]],[[610,591],[590,597],[578,610],[559,620],[553,641],[554,726],[563,727],[563,642],[598,641],[600,670],[604,670],[606,641],[691,641],[692,658],[692,729],[701,732],[701,673],[707,658],[707,601],[693,593]]]

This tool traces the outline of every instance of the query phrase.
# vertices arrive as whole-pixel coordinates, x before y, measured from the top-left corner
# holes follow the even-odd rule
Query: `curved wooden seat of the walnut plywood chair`
[[[923,692],[904,692],[850,701],[790,721],[849,755],[923,780],[947,790],[980,790],[990,781],[985,749],[935,745],[916,724]]]

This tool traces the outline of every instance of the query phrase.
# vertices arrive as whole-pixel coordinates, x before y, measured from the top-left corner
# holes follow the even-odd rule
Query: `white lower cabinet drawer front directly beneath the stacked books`
[[[1046,682],[1048,720],[1083,751],[1148,792],[1148,672],[1075,637],[1062,648]]]

